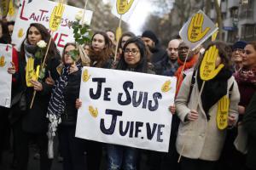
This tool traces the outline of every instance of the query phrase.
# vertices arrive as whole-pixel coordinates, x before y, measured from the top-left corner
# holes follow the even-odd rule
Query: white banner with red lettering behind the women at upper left
[[[21,7],[15,20],[15,28],[12,35],[13,43],[15,43],[18,49],[20,49],[21,42],[26,37],[26,30],[31,23],[40,23],[49,29],[50,14],[57,5],[55,2],[46,0],[23,0],[20,3]],[[67,42],[74,42],[71,23],[75,21],[75,15],[81,10],[84,9],[65,5],[61,25],[53,35],[53,39],[60,51],[62,51]],[[84,23],[90,25],[91,18],[92,11],[86,10]]]

